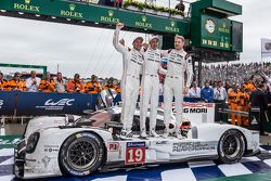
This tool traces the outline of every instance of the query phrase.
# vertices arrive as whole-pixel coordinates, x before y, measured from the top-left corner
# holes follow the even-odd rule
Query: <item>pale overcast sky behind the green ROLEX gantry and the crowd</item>
[[[271,39],[271,1],[231,1],[243,5],[243,15],[233,18],[244,23],[241,61],[260,62],[260,39]],[[124,31],[120,36],[131,46],[138,34]],[[113,30],[108,29],[0,16],[0,63],[47,65],[52,73],[60,64],[68,77],[79,73],[82,77],[120,78],[121,55],[113,48],[112,38]]]

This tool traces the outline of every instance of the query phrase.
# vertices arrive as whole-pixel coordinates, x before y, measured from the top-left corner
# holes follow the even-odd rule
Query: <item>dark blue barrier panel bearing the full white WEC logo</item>
[[[94,109],[98,94],[18,92],[17,115],[81,115]]]

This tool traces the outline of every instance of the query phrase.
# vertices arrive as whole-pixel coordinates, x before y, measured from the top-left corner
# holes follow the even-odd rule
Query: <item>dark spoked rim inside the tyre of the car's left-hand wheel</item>
[[[98,157],[96,146],[89,139],[74,141],[67,148],[68,165],[79,171],[86,171]]]

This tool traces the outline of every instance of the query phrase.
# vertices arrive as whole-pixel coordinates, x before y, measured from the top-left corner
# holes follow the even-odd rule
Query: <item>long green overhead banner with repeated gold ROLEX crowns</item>
[[[62,0],[0,0],[0,10],[21,13],[40,14],[54,18],[77,20],[116,25],[124,23],[126,27],[134,30],[154,30],[167,34],[189,35],[189,22],[171,17],[162,17],[144,13],[133,13],[124,9],[115,9],[94,3],[80,3]]]

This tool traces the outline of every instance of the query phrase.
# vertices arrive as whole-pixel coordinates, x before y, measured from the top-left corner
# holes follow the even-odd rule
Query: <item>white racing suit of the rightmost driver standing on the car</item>
[[[186,72],[186,87],[190,87],[193,78],[192,59],[183,50],[172,50],[168,54],[167,75],[164,85],[164,109],[165,125],[168,131],[170,115],[172,112],[172,99],[175,96],[176,106],[176,132],[179,131],[182,122],[182,102],[184,72]]]

